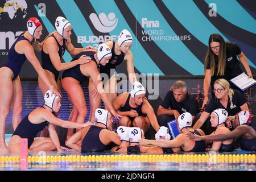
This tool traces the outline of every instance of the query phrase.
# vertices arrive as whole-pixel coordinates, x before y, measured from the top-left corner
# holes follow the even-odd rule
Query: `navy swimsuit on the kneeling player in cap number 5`
[[[44,130],[48,126],[48,121],[44,121],[39,124],[31,123],[28,120],[28,113],[22,121],[19,123],[18,127],[13,133],[14,135],[18,135],[20,138],[27,138],[28,148],[30,148],[31,144],[34,141],[34,138],[39,133],[39,131]]]

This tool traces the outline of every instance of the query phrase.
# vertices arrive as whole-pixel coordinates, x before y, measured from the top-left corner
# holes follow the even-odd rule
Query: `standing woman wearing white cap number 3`
[[[87,51],[88,48],[75,48],[71,43],[71,23],[62,16],[58,16],[55,20],[56,31],[50,34],[42,46],[41,51],[41,60],[42,67],[46,71],[47,76],[51,80],[51,83],[55,88],[61,93],[61,83],[59,79],[60,71],[75,67],[79,64],[88,63],[91,59],[89,56],[82,55],[76,61],[69,63],[61,63],[61,57],[64,55],[65,50],[75,56],[82,51]],[[42,77],[38,77],[38,85],[42,90],[42,93],[45,94],[48,90],[46,83],[43,81]],[[59,113],[57,113],[59,114]],[[41,133],[41,137],[46,137],[48,130],[44,130]]]

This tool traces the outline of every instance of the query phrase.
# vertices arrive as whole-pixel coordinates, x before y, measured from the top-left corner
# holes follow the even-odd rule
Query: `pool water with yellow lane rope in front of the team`
[[[255,152],[235,150],[212,154],[126,155],[114,152],[38,152],[27,162],[0,157],[1,171],[256,171]],[[11,157],[10,157],[11,156]]]

